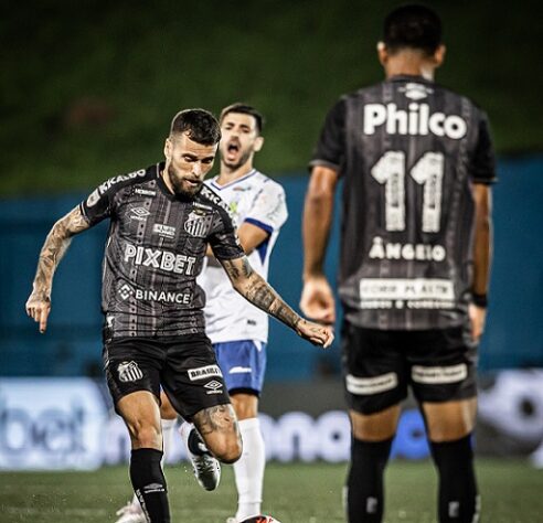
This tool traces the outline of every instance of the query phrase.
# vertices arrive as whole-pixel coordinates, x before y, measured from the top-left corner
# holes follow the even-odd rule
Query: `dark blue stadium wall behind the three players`
[[[502,160],[494,190],[496,248],[483,370],[543,366],[543,157]],[[272,258],[270,281],[291,305],[301,289],[305,177],[283,178],[290,217]],[[0,202],[0,375],[100,375],[99,287],[106,226],[74,239],[55,278],[50,328],[24,313],[38,254],[54,221],[84,194]],[[333,279],[338,223],[327,269]],[[268,380],[310,380],[339,370],[339,343],[321,352],[272,320]]]

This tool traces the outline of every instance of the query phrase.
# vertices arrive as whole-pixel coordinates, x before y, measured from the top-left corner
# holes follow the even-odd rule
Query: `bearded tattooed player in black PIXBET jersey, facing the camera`
[[[26,312],[45,332],[54,271],[72,236],[110,220],[103,273],[104,365],[116,412],[132,444],[130,479],[146,517],[170,522],[161,468],[160,387],[224,462],[242,452],[235,413],[204,332],[205,297],[196,285],[207,245],[234,288],[315,344],[333,335],[290,309],[252,269],[228,209],[203,179],[220,126],[188,109],[172,120],[166,162],[115,177],[56,222],[41,250]]]

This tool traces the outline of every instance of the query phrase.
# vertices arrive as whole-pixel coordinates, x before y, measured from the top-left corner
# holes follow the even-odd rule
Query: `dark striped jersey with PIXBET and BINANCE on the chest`
[[[193,199],[174,195],[162,169],[111,178],[81,203],[91,225],[110,220],[102,289],[106,337],[204,332],[196,276],[206,245],[217,259],[244,256],[220,196],[205,185]]]

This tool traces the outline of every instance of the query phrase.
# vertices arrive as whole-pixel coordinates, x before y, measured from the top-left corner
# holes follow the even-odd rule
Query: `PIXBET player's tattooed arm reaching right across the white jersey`
[[[232,285],[246,300],[268,314],[277,318],[298,335],[313,344],[330,346],[333,341],[329,328],[305,320],[298,316],[274,290],[274,288],[251,267],[246,256],[221,260]]]

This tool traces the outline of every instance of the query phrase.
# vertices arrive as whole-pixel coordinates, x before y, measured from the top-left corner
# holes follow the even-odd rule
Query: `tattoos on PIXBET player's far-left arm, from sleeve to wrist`
[[[34,292],[40,297],[50,298],[53,274],[68,248],[72,236],[88,227],[89,225],[78,207],[75,207],[53,225],[40,253],[34,278]]]

